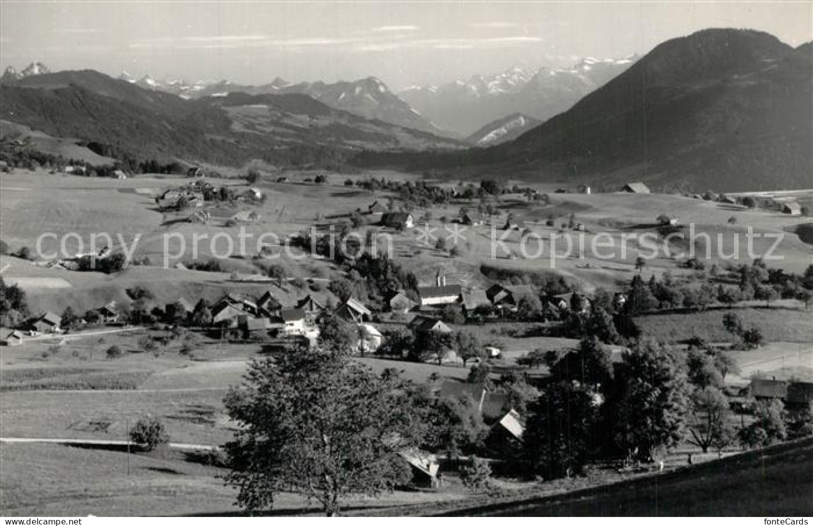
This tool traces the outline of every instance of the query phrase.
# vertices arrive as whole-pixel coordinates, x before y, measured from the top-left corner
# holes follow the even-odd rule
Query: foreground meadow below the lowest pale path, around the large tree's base
[[[241,515],[233,505],[236,490],[218,478],[220,468],[194,461],[195,455],[168,450],[131,454],[46,444],[2,444],[0,510],[3,515],[161,516]],[[129,472],[128,472],[129,465]],[[443,492],[384,493],[380,498],[354,496],[346,510],[368,511],[415,502],[465,498],[459,484]],[[315,502],[281,493],[270,515],[319,514]]]

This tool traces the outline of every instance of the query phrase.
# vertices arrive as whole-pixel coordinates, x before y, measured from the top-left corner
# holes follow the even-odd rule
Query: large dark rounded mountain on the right
[[[386,163],[611,187],[642,180],[655,188],[810,188],[811,49],[752,30],[706,29],[656,46],[513,141]]]

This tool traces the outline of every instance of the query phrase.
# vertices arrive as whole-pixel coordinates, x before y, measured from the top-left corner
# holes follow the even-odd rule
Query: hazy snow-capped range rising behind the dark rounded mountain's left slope
[[[468,137],[491,121],[521,113],[548,120],[624,72],[637,56],[582,59],[572,67],[515,67],[498,75],[472,76],[439,86],[412,86],[398,93],[440,128]]]

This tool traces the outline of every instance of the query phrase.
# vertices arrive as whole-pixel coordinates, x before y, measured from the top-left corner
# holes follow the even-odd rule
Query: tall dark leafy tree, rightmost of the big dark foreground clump
[[[657,341],[643,339],[624,354],[615,438],[625,450],[650,459],[654,450],[674,446],[688,411],[685,375],[675,357]]]

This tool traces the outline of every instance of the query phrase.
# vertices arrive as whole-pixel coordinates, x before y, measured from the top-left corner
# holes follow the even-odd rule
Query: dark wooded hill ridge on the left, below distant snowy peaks
[[[51,137],[74,137],[120,159],[324,166],[359,150],[463,147],[303,94],[217,95],[186,100],[92,70],[46,73],[3,82],[0,119]]]

